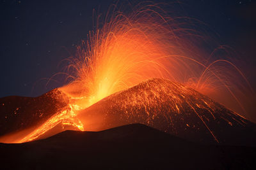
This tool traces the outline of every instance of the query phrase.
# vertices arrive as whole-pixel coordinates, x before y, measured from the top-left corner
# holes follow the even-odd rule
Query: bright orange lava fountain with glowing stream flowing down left
[[[191,24],[192,21],[194,24]],[[22,143],[36,139],[58,124],[63,125],[61,131],[65,130],[65,125],[84,131],[90,122],[88,122],[89,119],[84,120],[86,114],[81,114],[81,111],[83,112],[104,97],[134,87],[150,78],[168,79],[177,82],[177,85],[182,88],[184,86],[184,88],[195,89],[209,97],[224,92],[226,97],[228,96],[240,106],[241,110],[244,110],[238,96],[243,94],[244,89],[250,89],[250,84],[238,67],[228,60],[230,54],[225,46],[216,48],[210,53],[202,50],[206,38],[203,31],[195,29],[195,20],[188,17],[170,17],[154,4],[140,4],[129,14],[116,10],[114,5],[109,8],[103,25],[100,24],[97,22],[95,31],[88,34],[88,40],[77,47],[77,57],[68,59],[68,78],[72,78],[72,81],[58,88],[63,98],[67,99],[67,106],[15,142]],[[153,89],[151,93],[157,94],[157,89]],[[177,100],[181,100],[178,98],[176,97]],[[181,101],[175,101],[175,97],[171,101],[174,105],[172,104],[170,110],[174,109],[176,112],[182,110]],[[214,104],[207,104],[206,101],[205,103],[200,101],[200,103],[209,113],[216,110]],[[193,113],[204,123],[215,141],[218,141],[208,127],[207,121],[205,122],[202,115],[196,112],[195,104],[196,101],[194,104],[189,102],[186,107],[194,110]],[[161,108],[162,105],[163,103],[160,102],[156,107]],[[138,106],[134,105],[134,107]],[[148,106],[144,107],[148,108]],[[122,106],[123,108],[125,106]],[[176,113],[170,110],[162,113],[167,119]],[[140,114],[127,111],[133,115]],[[154,112],[154,110],[150,111]],[[234,117],[234,120],[244,124],[244,118],[236,113],[233,116],[232,114],[230,116]],[[148,115],[154,115],[154,113],[148,113]],[[125,116],[119,115],[115,118],[122,117]],[[97,118],[95,114],[94,119],[97,120]],[[145,123],[145,120],[137,121],[136,119],[126,123],[132,122]],[[226,122],[234,124],[231,120]],[[166,124],[170,124],[170,121],[168,120]],[[184,124],[189,126],[189,122]],[[148,125],[152,124],[148,123]],[[90,130],[97,130],[97,127],[94,128],[93,124],[90,124]]]

